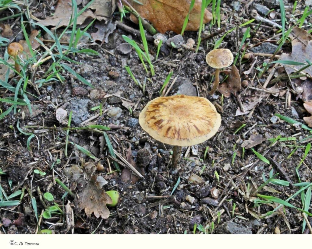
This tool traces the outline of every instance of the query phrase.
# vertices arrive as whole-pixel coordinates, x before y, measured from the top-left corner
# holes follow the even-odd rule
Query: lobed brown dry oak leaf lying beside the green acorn
[[[85,209],[85,214],[90,218],[94,213],[96,218],[107,219],[110,216],[110,210],[106,204],[112,204],[113,201],[108,194],[102,189],[103,177],[91,176],[90,182],[80,195],[78,206],[80,210]]]

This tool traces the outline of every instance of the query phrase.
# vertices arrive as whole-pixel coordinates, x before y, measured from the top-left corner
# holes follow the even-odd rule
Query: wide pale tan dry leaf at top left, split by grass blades
[[[80,10],[78,9],[78,12]],[[92,11],[86,10],[77,18],[77,24],[82,24],[88,17],[95,18]],[[44,26],[67,26],[69,20],[71,19],[71,0],[59,0],[54,12],[51,17],[46,17],[46,19],[38,22]]]

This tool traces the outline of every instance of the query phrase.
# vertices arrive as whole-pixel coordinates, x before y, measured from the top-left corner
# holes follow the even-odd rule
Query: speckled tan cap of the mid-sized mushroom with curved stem
[[[214,49],[206,55],[207,64],[216,69],[228,67],[233,63],[233,59],[231,50],[227,48]]]

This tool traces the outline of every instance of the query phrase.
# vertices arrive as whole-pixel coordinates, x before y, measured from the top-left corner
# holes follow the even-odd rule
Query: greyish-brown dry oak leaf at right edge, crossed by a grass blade
[[[280,56],[279,60],[292,60],[296,62],[302,62],[306,64],[306,60],[312,61],[312,36],[308,34],[307,31],[295,27],[292,30],[292,33],[295,35],[294,39],[291,41],[292,50],[291,54],[283,53]],[[284,65],[287,74],[295,72],[295,69],[300,69],[303,66],[293,66],[293,65]],[[311,67],[306,68],[302,72],[309,74],[312,77]]]

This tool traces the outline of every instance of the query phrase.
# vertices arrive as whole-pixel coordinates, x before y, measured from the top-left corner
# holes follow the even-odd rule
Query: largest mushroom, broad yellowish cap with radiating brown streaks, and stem
[[[173,145],[173,168],[183,146],[202,143],[218,131],[221,116],[202,97],[174,95],[151,100],[139,115],[142,129],[154,139]]]

